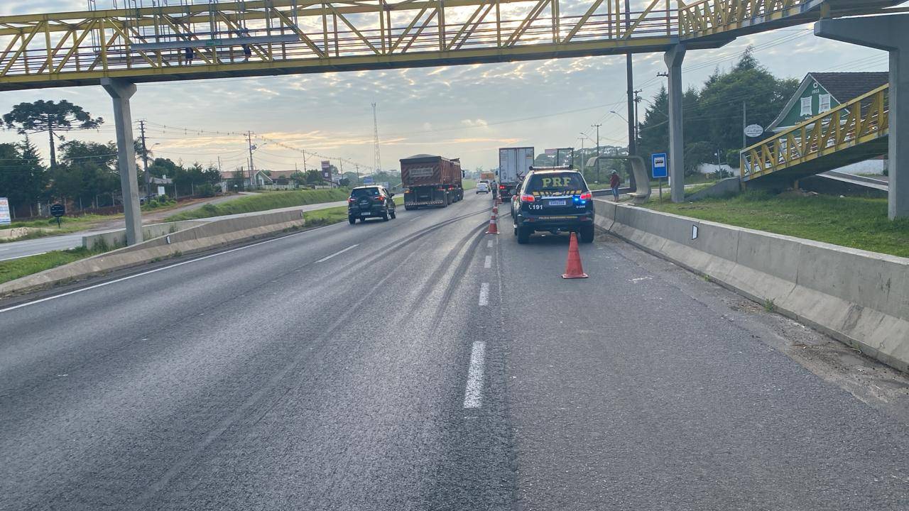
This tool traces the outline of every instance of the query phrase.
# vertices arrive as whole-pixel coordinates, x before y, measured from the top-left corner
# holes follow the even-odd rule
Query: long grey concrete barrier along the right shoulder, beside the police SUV
[[[594,201],[601,228],[909,371],[909,258]]]

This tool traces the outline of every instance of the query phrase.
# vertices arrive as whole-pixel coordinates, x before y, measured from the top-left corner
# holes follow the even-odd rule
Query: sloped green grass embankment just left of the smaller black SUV
[[[208,218],[221,215],[236,215],[238,213],[253,213],[255,211],[266,211],[269,209],[292,207],[295,205],[343,201],[347,198],[348,194],[350,194],[350,190],[346,188],[334,188],[331,190],[291,190],[286,192],[249,195],[222,204],[206,204],[198,209],[170,215],[165,218],[165,222],[193,220],[195,218]]]

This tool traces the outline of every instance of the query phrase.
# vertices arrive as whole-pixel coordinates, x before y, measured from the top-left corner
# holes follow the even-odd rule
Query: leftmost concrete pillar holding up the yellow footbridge
[[[135,170],[133,115],[129,110],[129,98],[135,94],[135,84],[115,78],[102,78],[101,86],[114,100],[117,166],[120,169],[120,188],[123,191],[126,245],[135,245],[142,242],[142,211],[139,209],[139,178]]]

